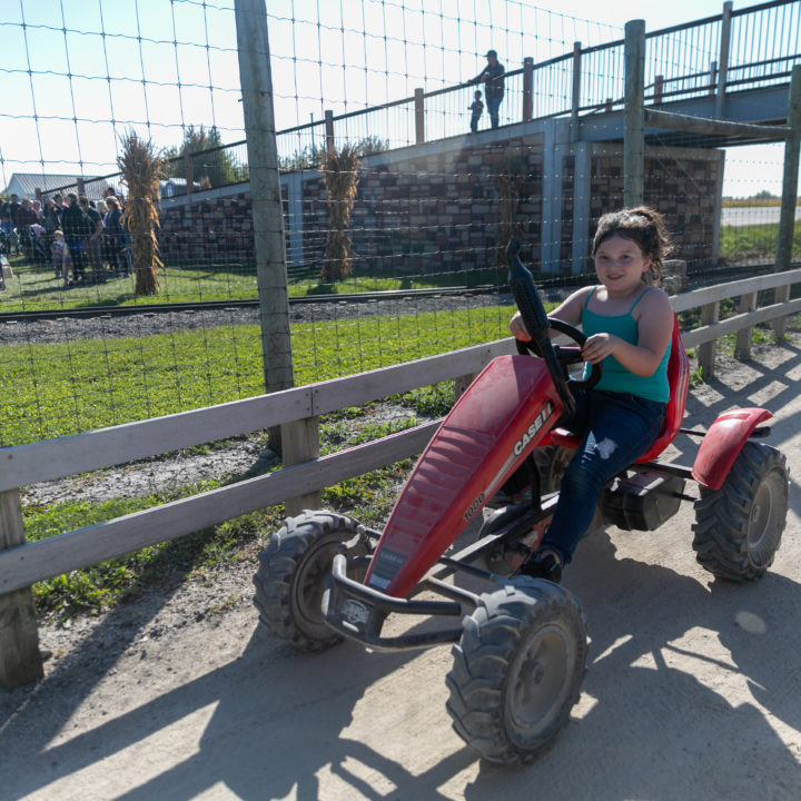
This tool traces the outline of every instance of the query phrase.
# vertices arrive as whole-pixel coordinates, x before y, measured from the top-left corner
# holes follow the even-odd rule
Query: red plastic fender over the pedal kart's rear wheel
[[[693,478],[710,490],[720,490],[751,432],[773,415],[762,408],[724,412],[704,435],[693,464]]]

